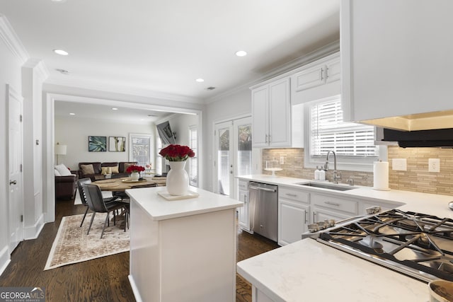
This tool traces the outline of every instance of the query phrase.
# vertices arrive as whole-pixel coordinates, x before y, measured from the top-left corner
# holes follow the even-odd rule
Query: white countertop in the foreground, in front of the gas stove
[[[428,301],[428,285],[311,238],[238,262],[273,301]]]

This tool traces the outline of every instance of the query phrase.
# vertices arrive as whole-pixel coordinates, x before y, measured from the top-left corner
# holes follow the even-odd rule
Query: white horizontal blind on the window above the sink
[[[337,156],[376,157],[374,127],[343,122],[340,98],[310,106],[310,156],[326,156],[334,150]]]

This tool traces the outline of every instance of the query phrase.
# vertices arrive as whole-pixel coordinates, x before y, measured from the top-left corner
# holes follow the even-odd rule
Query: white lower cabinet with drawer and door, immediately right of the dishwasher
[[[278,190],[278,244],[301,240],[309,222],[309,193],[287,187]]]

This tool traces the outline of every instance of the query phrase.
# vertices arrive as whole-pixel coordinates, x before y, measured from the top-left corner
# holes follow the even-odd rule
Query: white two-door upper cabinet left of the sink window
[[[291,146],[289,78],[252,89],[254,147]]]

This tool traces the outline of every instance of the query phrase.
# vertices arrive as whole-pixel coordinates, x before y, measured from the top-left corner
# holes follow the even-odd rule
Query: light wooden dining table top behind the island
[[[140,178],[139,180],[132,180],[131,178],[108,178],[105,180],[96,180],[92,182],[93,185],[97,185],[101,191],[115,191],[124,192],[128,189],[134,189],[137,187],[152,186],[161,187],[166,185],[166,178]]]

